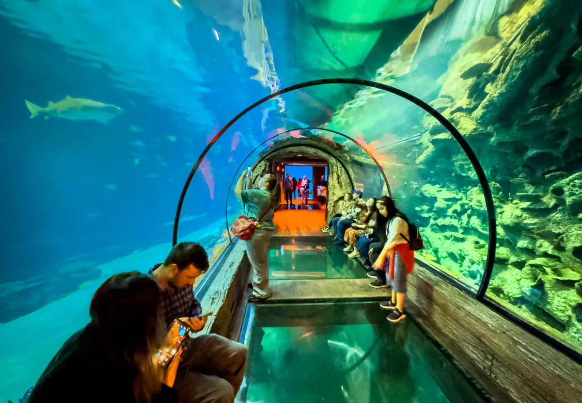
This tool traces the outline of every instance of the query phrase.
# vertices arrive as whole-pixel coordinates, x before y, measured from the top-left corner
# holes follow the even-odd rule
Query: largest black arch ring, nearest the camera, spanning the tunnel
[[[205,149],[200,154],[200,157],[198,157],[198,160],[196,161],[196,163],[192,167],[190,174],[188,175],[188,178],[186,179],[186,183],[184,183],[184,187],[182,189],[180,199],[178,200],[178,207],[176,208],[176,215],[174,218],[172,245],[176,245],[176,243],[178,242],[178,224],[179,224],[179,220],[180,220],[180,213],[182,211],[184,198],[186,197],[186,193],[187,193],[187,190],[190,186],[190,182],[192,181],[194,174],[196,173],[198,167],[200,167],[201,162],[204,160],[204,157],[208,154],[208,151],[210,151],[212,146],[214,146],[214,143],[217,142],[217,140],[226,132],[226,130],[228,130],[230,128],[230,126],[232,126],[240,118],[242,118],[242,116],[247,114],[247,112],[253,110],[254,108],[258,107],[258,105],[261,105],[262,103],[264,103],[266,101],[272,100],[273,98],[281,96],[282,94],[290,93],[290,92],[295,91],[295,90],[299,90],[299,89],[303,89],[303,88],[307,88],[307,87],[328,85],[328,84],[350,84],[350,85],[357,85],[357,86],[364,86],[364,87],[372,87],[372,88],[375,88],[378,90],[386,91],[387,93],[395,94],[396,96],[399,96],[401,98],[404,98],[405,100],[410,101],[413,104],[417,105],[418,107],[424,109],[425,112],[427,112],[432,117],[437,119],[437,121],[439,123],[441,123],[441,125],[443,125],[446,130],[448,130],[449,134],[451,136],[453,136],[453,138],[456,140],[456,142],[459,143],[459,146],[463,149],[464,153],[469,158],[469,161],[471,162],[471,166],[473,167],[475,174],[477,175],[477,179],[479,181],[479,184],[481,186],[481,190],[482,190],[483,195],[485,197],[485,207],[487,208],[487,218],[488,218],[487,258],[485,260],[485,268],[484,268],[483,276],[481,278],[481,284],[480,284],[479,289],[478,289],[477,294],[476,294],[477,299],[483,300],[484,296],[485,296],[485,291],[487,291],[487,287],[489,285],[489,280],[491,280],[491,274],[492,274],[493,266],[494,266],[495,249],[496,249],[496,242],[497,242],[497,223],[496,223],[496,217],[495,217],[495,204],[494,204],[493,197],[491,194],[491,189],[489,188],[489,182],[487,179],[487,175],[485,175],[485,171],[482,168],[482,166],[477,158],[477,155],[475,155],[473,149],[471,149],[471,146],[469,145],[467,140],[464,139],[464,137],[459,133],[459,131],[455,128],[455,126],[453,126],[453,124],[450,123],[448,121],[448,119],[446,119],[443,115],[441,115],[441,113],[438,112],[436,109],[434,109],[433,107],[428,105],[426,102],[420,100],[420,98],[417,98],[417,97],[413,96],[412,94],[407,93],[406,91],[400,90],[396,87],[388,86],[386,84],[377,83],[377,82],[374,82],[371,80],[337,78],[337,79],[313,80],[313,81],[308,81],[308,82],[304,82],[304,83],[300,83],[300,84],[294,84],[293,86],[289,86],[289,87],[286,87],[286,88],[281,89],[279,91],[275,91],[274,93],[269,94],[268,96],[261,98],[260,100],[249,105],[249,107],[245,108],[243,111],[241,111],[234,118],[232,118],[228,123],[226,123],[226,125],[221,130],[218,131],[218,133],[214,137],[212,137],[212,139],[207,144]]]

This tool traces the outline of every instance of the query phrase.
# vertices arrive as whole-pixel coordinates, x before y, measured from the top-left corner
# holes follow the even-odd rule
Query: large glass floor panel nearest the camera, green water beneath
[[[257,305],[240,402],[485,401],[413,321],[378,303]]]

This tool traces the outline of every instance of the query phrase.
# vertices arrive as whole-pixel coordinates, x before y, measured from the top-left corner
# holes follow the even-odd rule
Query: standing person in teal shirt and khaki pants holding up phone
[[[250,188],[251,176],[244,171],[236,183],[235,195],[244,203],[244,214],[258,221],[253,237],[246,241],[247,256],[253,266],[253,294],[249,302],[257,302],[271,296],[267,255],[269,241],[275,233],[273,216],[281,200],[281,186],[275,175],[267,174],[258,182],[258,189],[243,189],[247,175],[247,187]]]

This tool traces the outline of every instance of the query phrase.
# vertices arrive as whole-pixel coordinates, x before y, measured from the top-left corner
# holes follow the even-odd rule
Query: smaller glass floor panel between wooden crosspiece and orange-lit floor
[[[364,267],[349,259],[329,236],[271,238],[269,277],[273,280],[365,277]]]

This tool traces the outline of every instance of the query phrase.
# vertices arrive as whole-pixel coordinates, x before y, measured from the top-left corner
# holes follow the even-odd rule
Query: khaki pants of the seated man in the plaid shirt
[[[174,388],[180,403],[233,403],[247,363],[247,348],[217,334],[189,342]]]

